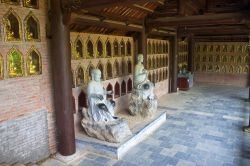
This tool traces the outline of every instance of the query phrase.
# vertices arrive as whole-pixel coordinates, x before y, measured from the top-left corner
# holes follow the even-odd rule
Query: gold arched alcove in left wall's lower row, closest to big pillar
[[[27,59],[28,75],[38,75],[42,73],[41,55],[38,50],[31,48]]]

